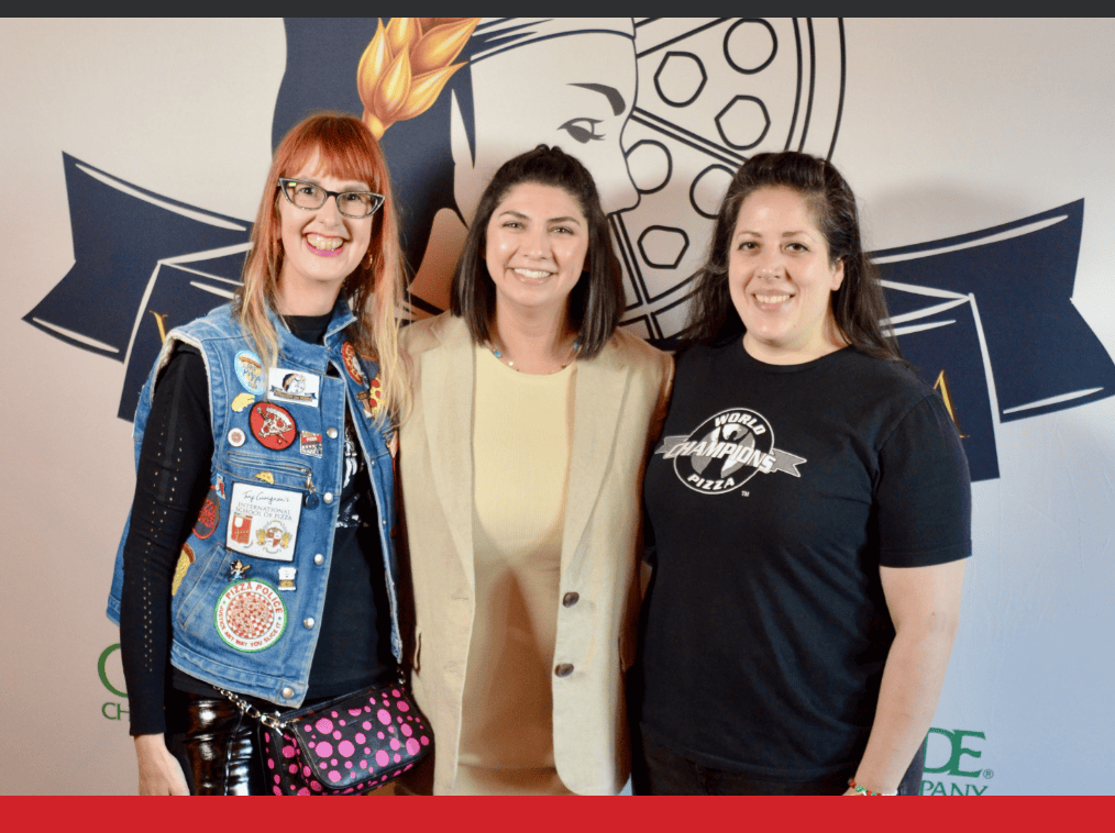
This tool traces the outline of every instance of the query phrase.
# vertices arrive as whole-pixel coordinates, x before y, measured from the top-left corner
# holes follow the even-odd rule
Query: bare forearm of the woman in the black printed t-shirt
[[[879,572],[895,636],[855,783],[894,793],[937,712],[960,621],[964,561],[881,567]]]

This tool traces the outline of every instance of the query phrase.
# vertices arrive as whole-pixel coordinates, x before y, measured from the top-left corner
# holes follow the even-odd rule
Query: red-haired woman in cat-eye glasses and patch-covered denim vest
[[[397,674],[400,262],[378,144],[311,116],[275,151],[232,303],[167,334],[108,606],[140,793],[280,792],[240,706]]]

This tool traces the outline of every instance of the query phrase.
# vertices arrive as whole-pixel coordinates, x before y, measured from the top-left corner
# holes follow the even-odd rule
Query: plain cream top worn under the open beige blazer
[[[476,615],[458,795],[569,794],[554,770],[551,677],[575,363],[520,373],[476,347]]]

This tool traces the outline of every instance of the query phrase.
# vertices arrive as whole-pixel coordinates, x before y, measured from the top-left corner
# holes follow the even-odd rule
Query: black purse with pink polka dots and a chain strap
[[[275,795],[353,795],[382,786],[429,754],[433,733],[401,679],[285,714],[261,713],[263,775]]]

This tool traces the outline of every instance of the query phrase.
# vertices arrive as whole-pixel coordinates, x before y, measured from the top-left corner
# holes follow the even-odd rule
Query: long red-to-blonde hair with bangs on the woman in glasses
[[[357,317],[350,329],[357,351],[379,364],[380,423],[398,421],[409,412],[410,380],[399,355],[397,312],[406,292],[399,225],[391,195],[387,160],[360,119],[337,112],[307,117],[279,144],[268,171],[263,198],[252,229],[252,248],[244,262],[243,285],[236,291],[233,310],[264,365],[273,367],[279,357],[279,340],[268,316],[275,308],[279,275],[283,265],[279,218],[279,177],[298,173],[319,154],[322,170],[339,179],[368,183],[382,194],[384,206],[372,217],[371,243],[341,294]]]

